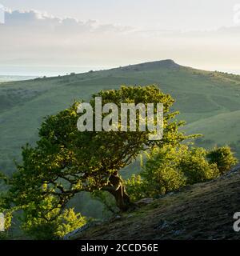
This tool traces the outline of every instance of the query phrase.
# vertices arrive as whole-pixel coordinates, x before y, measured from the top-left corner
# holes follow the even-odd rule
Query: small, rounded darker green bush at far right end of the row
[[[237,162],[230,146],[214,147],[207,154],[210,163],[216,163],[221,174],[226,174]]]

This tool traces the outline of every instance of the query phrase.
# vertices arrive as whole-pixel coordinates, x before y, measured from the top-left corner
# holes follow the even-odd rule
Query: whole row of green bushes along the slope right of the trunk
[[[215,148],[209,153],[203,148],[186,145],[154,147],[142,172],[126,181],[126,189],[134,201],[156,197],[217,178],[235,163],[229,147]]]

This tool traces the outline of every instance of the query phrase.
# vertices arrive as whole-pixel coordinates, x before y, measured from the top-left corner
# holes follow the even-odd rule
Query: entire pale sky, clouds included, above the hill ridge
[[[0,74],[65,74],[165,58],[240,74],[240,0],[0,4],[7,8]]]

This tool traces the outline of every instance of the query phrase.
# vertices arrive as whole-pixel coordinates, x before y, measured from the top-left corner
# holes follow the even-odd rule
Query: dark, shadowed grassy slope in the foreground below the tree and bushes
[[[240,239],[233,229],[239,202],[238,170],[156,199],[72,239]]]

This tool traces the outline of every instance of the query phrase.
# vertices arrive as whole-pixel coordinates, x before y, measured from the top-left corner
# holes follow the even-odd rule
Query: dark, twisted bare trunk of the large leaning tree
[[[106,190],[114,196],[117,206],[121,211],[130,210],[134,204],[130,202],[130,197],[126,194],[125,186],[122,185],[122,179],[118,175],[112,174],[109,180],[109,184],[103,187],[102,190]]]

